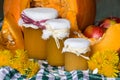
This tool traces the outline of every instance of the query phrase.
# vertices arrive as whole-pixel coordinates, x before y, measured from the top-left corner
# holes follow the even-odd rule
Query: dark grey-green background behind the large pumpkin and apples
[[[120,0],[96,0],[96,20],[106,17],[120,17]],[[0,22],[3,19],[3,0],[0,0]],[[0,23],[1,24],[1,23]]]

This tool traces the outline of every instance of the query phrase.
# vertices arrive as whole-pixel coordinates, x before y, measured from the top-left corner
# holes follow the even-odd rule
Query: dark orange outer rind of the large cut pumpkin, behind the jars
[[[94,23],[96,16],[96,0],[77,0],[77,21],[79,29],[83,30]]]

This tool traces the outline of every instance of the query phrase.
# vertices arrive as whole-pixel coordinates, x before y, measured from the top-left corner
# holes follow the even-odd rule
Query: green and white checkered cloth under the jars
[[[30,79],[21,75],[10,67],[0,68],[0,80],[120,80],[118,78],[107,78],[99,74],[91,74],[90,71],[71,71],[67,72],[64,67],[53,67],[46,61],[39,61],[41,69]]]

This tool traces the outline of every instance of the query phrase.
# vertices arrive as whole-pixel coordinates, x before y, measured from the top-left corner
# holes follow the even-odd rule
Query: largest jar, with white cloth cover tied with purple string
[[[53,8],[28,8],[22,11],[19,25],[23,26],[25,50],[30,58],[46,59],[47,41],[42,39],[45,22],[58,17]]]

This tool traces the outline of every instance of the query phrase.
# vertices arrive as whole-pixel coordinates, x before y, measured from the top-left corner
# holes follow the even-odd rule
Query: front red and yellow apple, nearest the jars
[[[90,25],[88,26],[83,34],[88,37],[88,38],[100,38],[104,34],[104,30],[101,27],[95,26],[95,25]]]

